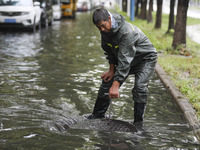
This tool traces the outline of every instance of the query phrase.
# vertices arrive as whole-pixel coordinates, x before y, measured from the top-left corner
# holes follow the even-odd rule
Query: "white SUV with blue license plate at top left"
[[[0,27],[41,27],[40,2],[33,0],[0,0]]]

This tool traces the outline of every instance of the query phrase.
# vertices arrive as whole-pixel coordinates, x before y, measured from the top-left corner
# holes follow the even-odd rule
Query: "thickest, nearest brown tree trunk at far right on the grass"
[[[178,45],[186,45],[186,23],[189,0],[178,0],[175,32],[173,37],[173,48]]]

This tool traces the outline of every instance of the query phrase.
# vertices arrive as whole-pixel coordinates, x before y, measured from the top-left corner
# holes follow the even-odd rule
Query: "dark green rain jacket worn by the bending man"
[[[110,33],[101,32],[101,46],[110,64],[116,65],[114,80],[121,84],[144,60],[155,61],[157,52],[146,35],[124,17],[112,14],[118,23]],[[131,71],[132,70],[132,71]]]

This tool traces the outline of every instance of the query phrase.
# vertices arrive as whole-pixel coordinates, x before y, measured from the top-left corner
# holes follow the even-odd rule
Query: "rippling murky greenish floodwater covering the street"
[[[108,68],[90,13],[36,33],[1,31],[0,68],[1,150],[200,148],[156,75],[149,83],[145,121],[137,132],[104,130],[105,122],[83,119],[92,112],[100,74]],[[133,122],[133,81],[130,76],[121,97],[113,100],[112,119]]]

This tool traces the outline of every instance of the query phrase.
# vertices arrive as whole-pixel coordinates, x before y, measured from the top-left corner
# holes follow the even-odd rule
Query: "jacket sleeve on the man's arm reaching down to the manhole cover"
[[[122,84],[129,74],[131,62],[136,54],[136,45],[139,39],[138,32],[127,32],[122,35],[119,42],[118,65],[114,80]]]

